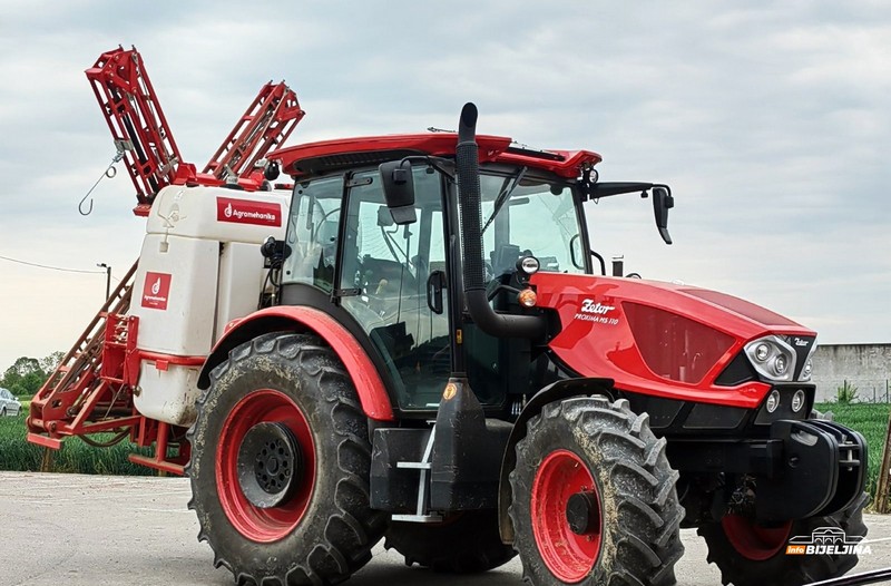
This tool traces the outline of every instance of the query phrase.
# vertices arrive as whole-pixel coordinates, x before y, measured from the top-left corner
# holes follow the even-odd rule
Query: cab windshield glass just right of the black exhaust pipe
[[[585,273],[581,224],[567,184],[512,174],[480,176],[488,279],[516,271],[532,255],[542,271]]]

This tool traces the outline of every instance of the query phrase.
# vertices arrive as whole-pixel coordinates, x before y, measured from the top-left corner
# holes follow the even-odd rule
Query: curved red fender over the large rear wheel
[[[362,345],[334,318],[313,307],[266,307],[231,323],[207,357],[198,377],[198,388],[210,385],[210,371],[226,360],[232,350],[270,332],[311,332],[319,335],[334,350],[353,380],[365,416],[378,421],[395,419],[386,387]]]

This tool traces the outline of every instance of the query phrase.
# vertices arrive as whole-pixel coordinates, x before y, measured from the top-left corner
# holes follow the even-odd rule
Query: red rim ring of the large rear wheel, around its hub
[[[303,471],[293,497],[277,507],[254,506],[238,482],[238,448],[257,423],[284,423],[294,433],[303,457]],[[306,417],[286,394],[261,389],[244,397],[226,417],[216,450],[216,489],[233,527],[257,543],[277,541],[297,526],[310,504],[315,484],[315,448]]]

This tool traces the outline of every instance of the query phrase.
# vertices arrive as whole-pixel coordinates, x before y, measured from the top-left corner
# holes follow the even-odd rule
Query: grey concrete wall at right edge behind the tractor
[[[816,400],[834,400],[844,381],[858,388],[859,401],[888,402],[891,344],[819,345],[814,352]]]

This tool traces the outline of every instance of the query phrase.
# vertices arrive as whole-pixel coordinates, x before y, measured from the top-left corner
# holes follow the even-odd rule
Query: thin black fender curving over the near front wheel
[[[505,544],[513,543],[513,524],[508,515],[513,495],[510,490],[510,472],[517,466],[517,452],[515,447],[526,437],[526,423],[535,416],[539,414],[546,404],[555,401],[562,401],[570,397],[585,397],[600,394],[613,398],[613,379],[567,379],[548,384],[538,391],[532,399],[526,403],[520,417],[513,423],[513,430],[508,438],[505,448],[505,456],[501,460],[501,475],[498,480],[498,530]]]

